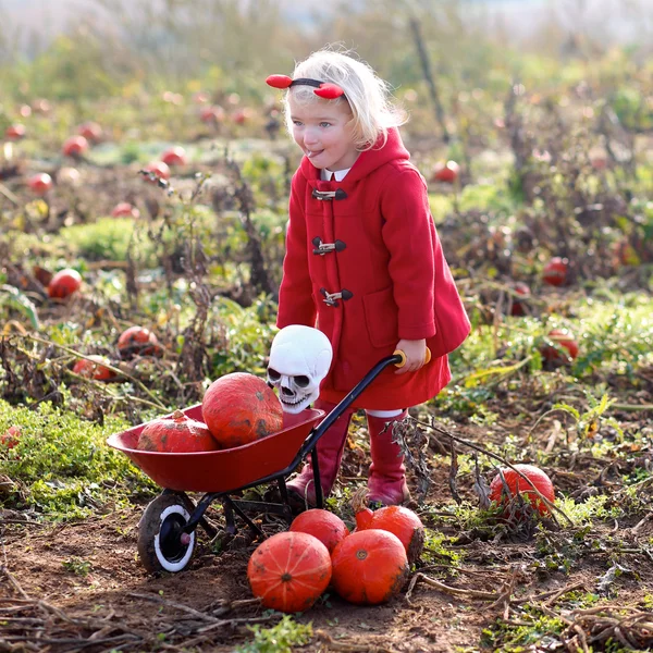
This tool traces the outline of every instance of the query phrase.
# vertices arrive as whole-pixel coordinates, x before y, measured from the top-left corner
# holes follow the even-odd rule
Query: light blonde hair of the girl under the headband
[[[293,132],[293,122],[288,98],[298,102],[348,102],[352,109],[354,145],[359,151],[374,147],[382,136],[383,145],[387,140],[387,130],[403,125],[408,119],[406,112],[395,106],[390,84],[381,79],[365,61],[354,59],[345,52],[324,48],[313,52],[308,59],[295,65],[293,78],[308,77],[319,82],[337,84],[345,95],[335,100],[318,97],[311,86],[297,85],[288,89],[284,98],[284,112],[288,132]]]

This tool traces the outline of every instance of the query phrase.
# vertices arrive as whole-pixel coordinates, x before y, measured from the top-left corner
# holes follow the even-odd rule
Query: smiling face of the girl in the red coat
[[[347,102],[288,97],[293,138],[316,168],[346,170],[360,153],[353,141],[352,110]]]

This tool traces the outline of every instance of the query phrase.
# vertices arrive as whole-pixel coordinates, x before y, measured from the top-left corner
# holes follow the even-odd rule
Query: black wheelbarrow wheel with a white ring
[[[189,519],[184,500],[174,494],[161,494],[147,506],[138,525],[138,554],[150,574],[186,567],[195,549],[195,531],[183,531]]]

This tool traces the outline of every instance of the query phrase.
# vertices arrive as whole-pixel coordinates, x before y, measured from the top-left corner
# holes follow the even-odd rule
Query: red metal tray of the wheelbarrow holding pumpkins
[[[183,412],[204,421],[201,404]],[[298,415],[284,412],[283,430],[249,444],[218,452],[164,454],[138,451],[138,435],[147,422],[113,433],[107,444],[123,452],[161,488],[182,492],[231,492],[255,485],[258,480],[284,470],[323,416],[323,410],[312,408]]]

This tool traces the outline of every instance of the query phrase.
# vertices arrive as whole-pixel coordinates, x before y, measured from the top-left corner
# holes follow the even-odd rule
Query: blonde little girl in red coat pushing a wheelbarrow
[[[287,89],[286,122],[304,152],[291,189],[276,325],[316,326],[333,347],[315,407],[330,412],[381,358],[395,349],[406,355],[318,441],[322,490],[329,496],[335,482],[352,414],[365,409],[368,501],[402,504],[410,494],[389,422],[448,383],[447,354],[470,329],[427,184],[397,131],[405,115],[369,65],[332,50],[298,63],[292,78],[267,82]],[[427,347],[432,359],[424,364]],[[310,463],[287,488],[300,505],[315,505]]]

